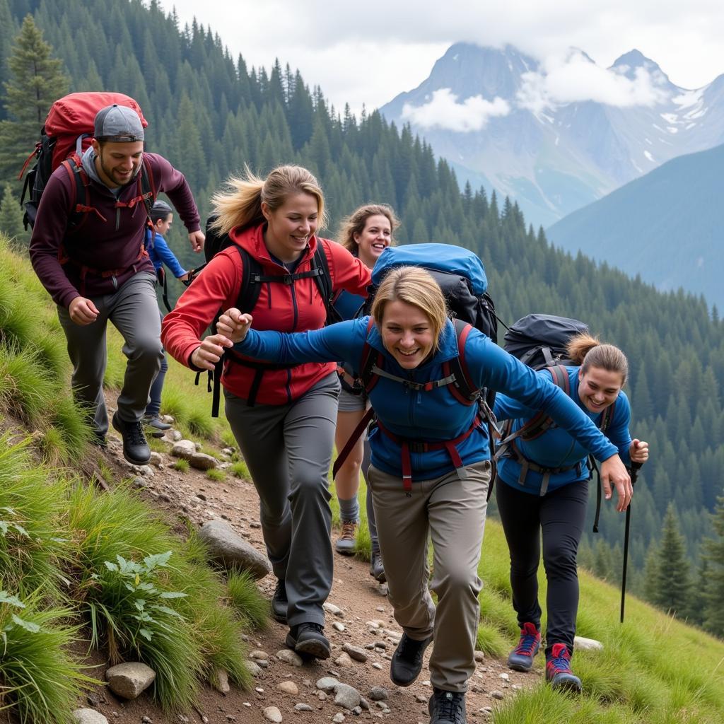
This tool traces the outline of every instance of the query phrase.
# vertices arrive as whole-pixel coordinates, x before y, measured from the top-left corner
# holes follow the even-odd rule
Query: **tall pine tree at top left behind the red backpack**
[[[4,84],[4,106],[8,119],[0,123],[0,180],[17,175],[51,104],[68,88],[62,63],[52,57],[51,46],[43,41],[30,15],[22,21],[7,65],[10,78]]]

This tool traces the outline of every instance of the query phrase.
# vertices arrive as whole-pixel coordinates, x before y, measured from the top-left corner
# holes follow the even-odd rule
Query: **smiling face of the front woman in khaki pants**
[[[415,369],[432,353],[435,335],[421,308],[400,300],[384,306],[382,344],[403,369]]]

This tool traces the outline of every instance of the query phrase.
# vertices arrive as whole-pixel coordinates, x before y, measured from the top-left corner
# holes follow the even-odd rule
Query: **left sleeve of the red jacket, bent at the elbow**
[[[209,261],[164,317],[161,341],[175,360],[190,366],[204,330],[219,310],[234,306],[240,287],[241,256],[233,248],[225,249]]]

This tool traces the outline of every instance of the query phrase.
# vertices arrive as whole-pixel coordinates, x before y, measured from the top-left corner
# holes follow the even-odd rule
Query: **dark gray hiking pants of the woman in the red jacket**
[[[256,405],[224,390],[226,416],[259,495],[274,575],[285,581],[287,622],[320,623],[332,588],[329,461],[337,424],[336,373],[289,405]]]

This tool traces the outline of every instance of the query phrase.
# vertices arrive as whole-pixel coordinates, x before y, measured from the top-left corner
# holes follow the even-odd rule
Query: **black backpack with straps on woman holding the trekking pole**
[[[527,364],[534,370],[548,369],[552,376],[553,384],[560,387],[566,395],[570,392],[570,381],[566,365],[572,365],[573,361],[567,358],[566,349],[568,342],[577,334],[588,334],[589,327],[577,319],[552,316],[550,314],[529,314],[518,319],[505,332],[503,349]],[[601,416],[599,430],[605,434],[609,428],[615,411],[614,402],[609,405]],[[576,466],[563,466],[560,468],[544,468],[537,463],[523,457],[515,440],[518,437],[528,441],[540,437],[555,422],[544,412],[539,412],[526,422],[520,429],[513,432],[513,420],[506,420],[502,426],[500,445],[498,446],[495,458],[511,456],[521,463],[521,479],[524,479],[529,470],[543,475],[541,495],[547,491],[548,479],[552,474],[563,473],[573,470]],[[588,458],[589,480],[593,471],[597,473],[598,489],[596,498],[596,515],[594,517],[594,533],[598,532],[599,516],[601,513],[601,476],[598,466],[592,455]]]

